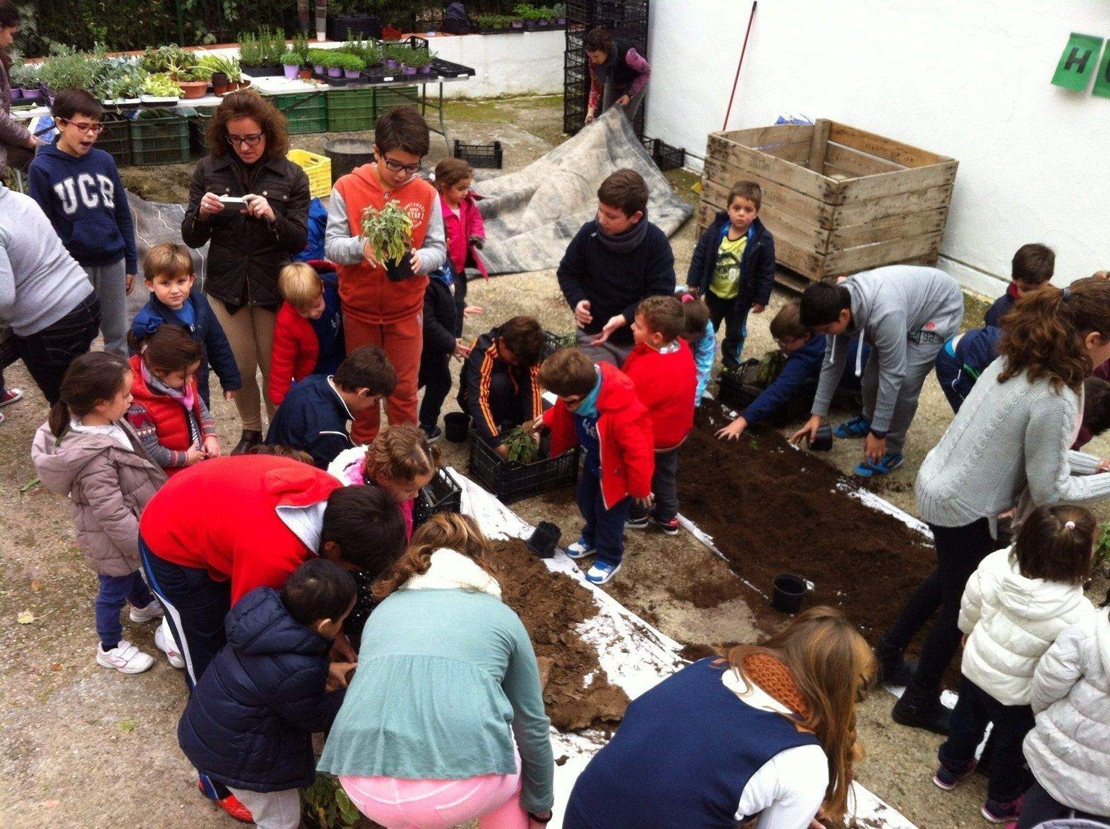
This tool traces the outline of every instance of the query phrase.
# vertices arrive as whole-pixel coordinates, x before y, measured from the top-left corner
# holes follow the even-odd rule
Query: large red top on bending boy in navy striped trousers
[[[147,504],[143,543],[167,562],[231,579],[231,604],[255,587],[281,588],[316,555],[285,526],[279,506],[311,506],[343,486],[323,469],[269,455],[234,455],[190,466]]]

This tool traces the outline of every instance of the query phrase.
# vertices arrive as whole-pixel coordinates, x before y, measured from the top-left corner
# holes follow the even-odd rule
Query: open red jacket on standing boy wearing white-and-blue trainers
[[[602,391],[597,396],[602,501],[606,509],[612,509],[625,496],[645,498],[652,493],[655,474],[652,418],[624,372],[608,363],[598,363],[597,367],[602,371]],[[552,457],[578,444],[574,415],[563,401],[544,413],[544,425],[552,431]]]

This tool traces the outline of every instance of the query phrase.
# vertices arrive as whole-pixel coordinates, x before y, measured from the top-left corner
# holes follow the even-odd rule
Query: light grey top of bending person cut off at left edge
[[[53,325],[92,293],[92,283],[29,195],[0,184],[0,320],[17,336]]]

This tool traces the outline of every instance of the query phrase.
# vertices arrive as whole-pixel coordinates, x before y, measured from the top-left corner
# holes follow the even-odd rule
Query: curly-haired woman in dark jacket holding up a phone
[[[240,454],[262,442],[259,368],[266,412],[274,411],[268,386],[282,301],[278,273],[309,240],[309,176],[285,159],[285,117],[253,90],[223,99],[209,122],[208,145],[189,188],[181,237],[190,247],[210,242],[204,291],[243,377],[235,394],[243,437],[232,452]],[[221,196],[245,203],[224,204]]]

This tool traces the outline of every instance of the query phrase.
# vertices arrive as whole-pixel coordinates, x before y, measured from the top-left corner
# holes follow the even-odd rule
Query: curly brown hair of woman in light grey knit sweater
[[[1027,374],[1030,382],[1048,380],[1056,391],[1079,392],[1091,373],[1083,338],[1110,337],[1110,282],[1088,276],[1066,289],[1045,285],[1029,291],[1002,317],[998,353],[1006,365],[998,382]]]

